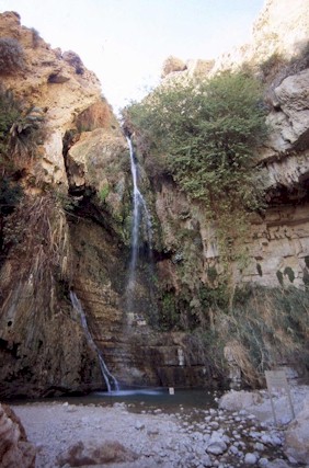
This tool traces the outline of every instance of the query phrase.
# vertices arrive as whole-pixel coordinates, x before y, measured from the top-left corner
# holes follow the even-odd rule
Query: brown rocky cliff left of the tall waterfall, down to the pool
[[[105,388],[72,292],[121,381],[193,384],[202,367],[184,369],[183,358],[180,366],[182,335],[146,324],[149,282],[142,265],[137,274],[140,316],[129,316],[124,306],[129,153],[95,76],[75,53],[52,49],[35,31],[21,26],[16,13],[0,15],[0,34],[19,41],[25,61],[23,69],[3,75],[3,85],[43,110],[47,127],[41,157],[13,174],[24,190],[20,205],[1,216],[0,396]]]

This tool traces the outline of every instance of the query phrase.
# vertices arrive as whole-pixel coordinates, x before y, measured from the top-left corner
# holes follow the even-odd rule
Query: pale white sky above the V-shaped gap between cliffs
[[[213,59],[250,41],[264,0],[0,0],[53,48],[76,52],[115,112],[159,81],[169,56]]]

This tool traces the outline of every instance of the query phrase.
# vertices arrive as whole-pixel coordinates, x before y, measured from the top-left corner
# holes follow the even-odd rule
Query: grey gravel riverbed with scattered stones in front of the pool
[[[241,392],[239,396],[242,398]],[[237,411],[220,406],[188,409],[180,404],[168,413],[125,402],[11,407],[37,448],[37,468],[304,466],[291,464],[284,452],[289,419],[286,400],[278,397],[275,402],[281,420],[275,426],[266,392],[259,396],[259,403]],[[296,412],[308,398],[309,387],[293,389]]]

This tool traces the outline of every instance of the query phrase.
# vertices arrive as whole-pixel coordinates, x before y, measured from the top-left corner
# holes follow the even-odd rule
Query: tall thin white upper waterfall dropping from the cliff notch
[[[146,229],[146,238],[149,246],[149,252],[151,254],[152,249],[152,226],[149,210],[147,208],[146,201],[138,189],[138,165],[136,156],[134,152],[133,144],[130,138],[127,137],[130,157],[130,171],[133,178],[133,222],[131,222],[131,256],[129,264],[129,276],[127,285],[127,308],[130,311],[133,306],[134,289],[136,282],[136,266],[139,251],[139,232],[141,220],[144,220],[144,227]],[[142,219],[141,219],[142,218]],[[151,263],[152,263],[152,259]]]

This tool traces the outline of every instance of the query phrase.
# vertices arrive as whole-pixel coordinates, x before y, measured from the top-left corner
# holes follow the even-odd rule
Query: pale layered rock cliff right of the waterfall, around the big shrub
[[[229,265],[224,264],[216,225],[207,219],[203,204],[190,202],[171,178],[162,174],[153,175],[153,171],[149,171],[156,192],[156,213],[164,251],[157,263],[161,286],[160,300],[163,315],[168,316],[164,320],[171,327],[175,326],[176,310],[179,327],[184,326],[188,330],[194,329],[196,323],[202,323],[202,328],[206,330],[205,334],[209,333],[210,336],[205,339],[205,347],[209,345],[211,332],[217,327],[220,330],[218,340],[222,332],[228,344],[225,357],[229,359],[229,349],[233,349],[230,361],[236,367],[241,363],[244,373],[247,364],[242,361],[244,354],[241,351],[241,342],[243,344],[241,322],[248,321],[245,326],[248,329],[252,327],[250,335],[253,339],[251,342],[249,338],[249,346],[253,349],[259,343],[255,351],[261,355],[264,355],[265,351],[266,359],[271,356],[271,359],[274,359],[273,364],[281,363],[286,359],[286,356],[283,357],[285,352],[274,356],[270,336],[264,336],[263,344],[255,335],[255,333],[263,335],[263,330],[254,330],[254,326],[250,324],[250,317],[254,316],[255,308],[252,303],[249,306],[249,316],[245,316],[242,309],[243,318],[233,317],[232,320],[239,320],[239,330],[237,339],[232,341],[230,338],[232,342],[228,343],[233,321],[219,313],[219,310],[227,307],[227,304],[224,304],[225,289],[220,289],[220,277],[222,278],[227,271],[231,273],[229,284],[225,285],[230,292],[229,306],[240,299],[237,307],[243,308],[241,301],[244,299],[239,296],[239,289],[244,290],[245,286],[254,290],[261,288],[272,290],[270,295],[275,294],[274,290],[277,289],[284,298],[287,298],[296,286],[304,292],[300,303],[307,304],[308,298],[309,11],[308,4],[301,1],[295,3],[290,14],[287,13],[288,8],[287,2],[267,1],[254,25],[252,43],[234,53],[224,55],[213,65],[208,62],[210,67],[206,67],[204,72],[197,67],[198,64],[182,64],[179,59],[172,58],[168,59],[163,69],[163,84],[169,84],[170,81],[183,82],[191,76],[198,75],[211,78],[219,71],[238,70],[242,67],[244,70],[253,71],[264,84],[270,135],[265,145],[259,148],[256,183],[264,190],[266,208],[263,213],[252,214],[251,228],[247,231],[244,240],[233,240],[233,252],[236,256],[241,253],[240,258],[231,261]],[[151,164],[146,160],[146,168],[148,165]],[[260,303],[261,298],[256,296],[255,301]],[[265,299],[265,309],[267,307],[275,316],[276,306]],[[308,324],[307,307],[308,304],[300,319],[300,324],[305,328]],[[267,311],[264,310],[263,317],[264,312],[260,306],[258,309],[260,311],[256,321],[268,322]],[[290,310],[298,310],[298,306],[295,304]],[[284,320],[283,311],[278,313],[282,313]],[[271,329],[272,327],[267,329],[268,332]],[[273,332],[276,336],[281,335],[279,322],[275,324]],[[308,338],[306,331],[302,336]],[[202,356],[201,349],[198,351],[196,334],[191,334],[191,338],[196,346],[195,355],[199,353],[201,359],[205,363],[205,356]],[[288,343],[288,336],[284,341]],[[205,342],[208,344],[205,345]],[[288,346],[284,347],[287,350]],[[190,346],[186,345],[185,355],[188,354]],[[251,355],[250,358],[252,357]],[[214,355],[214,361],[216,358]],[[295,356],[291,359],[296,359]]]

